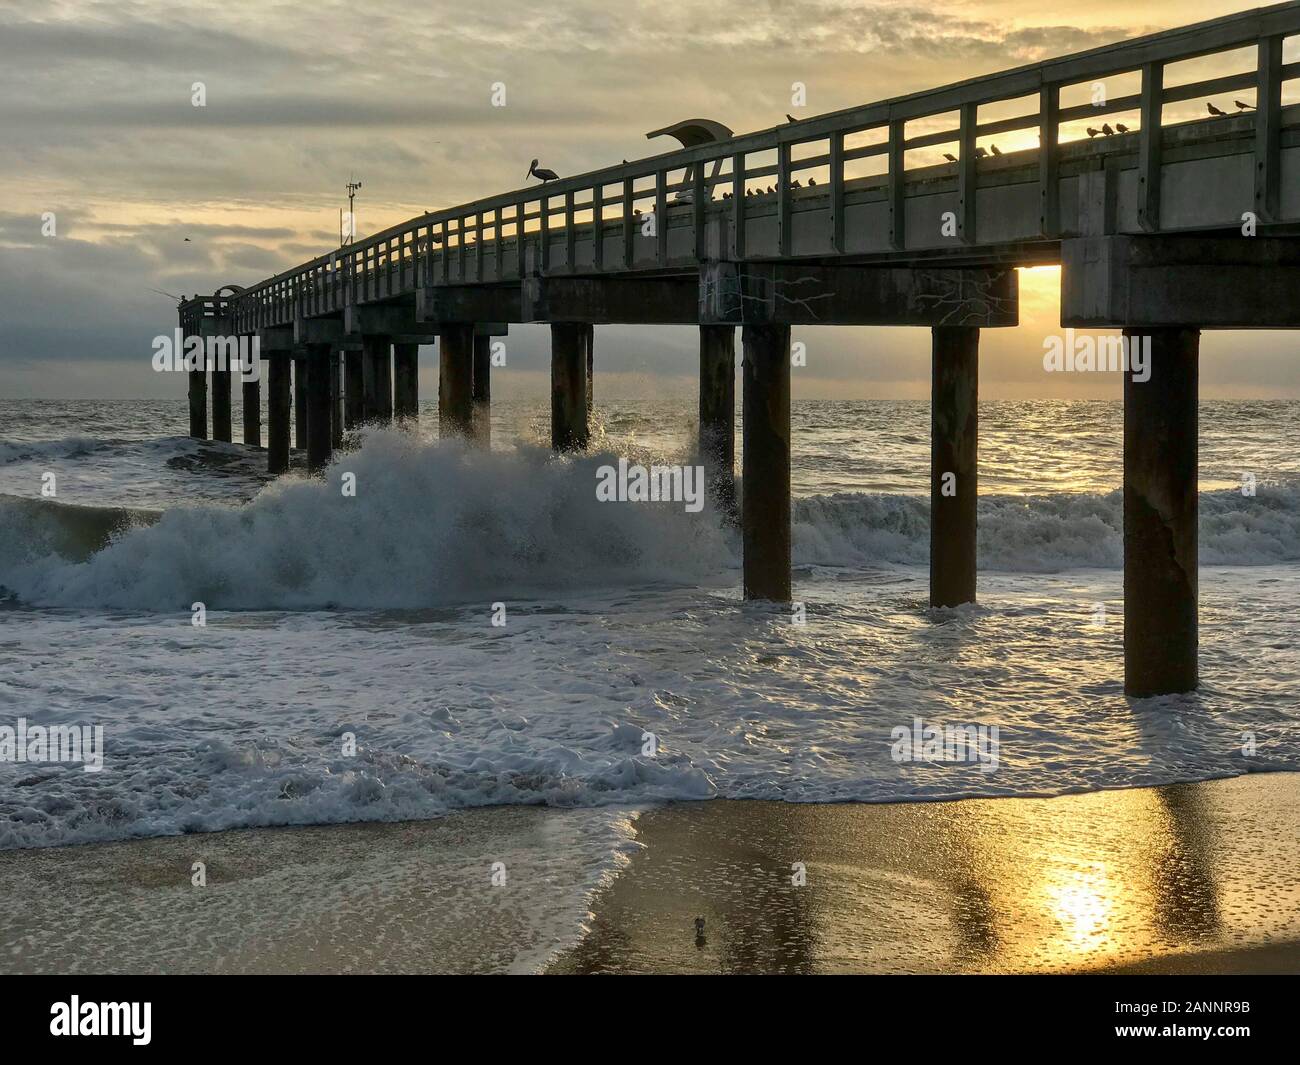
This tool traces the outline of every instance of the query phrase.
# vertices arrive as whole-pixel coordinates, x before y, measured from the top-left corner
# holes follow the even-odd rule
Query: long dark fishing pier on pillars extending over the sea
[[[488,446],[491,337],[521,322],[550,325],[551,442],[581,450],[595,328],[694,325],[710,493],[740,523],[745,596],[776,602],[790,599],[792,328],[930,329],[931,605],[954,607],[976,596],[980,330],[1018,325],[1018,267],[1058,264],[1063,328],[1149,338],[1149,380],[1126,372],[1123,389],[1124,688],[1186,692],[1200,333],[1300,326],[1300,105],[1283,105],[1297,33],[1300,3],[1278,4],[758,133],[694,120],[656,131],[680,150],[429,212],[185,300],[181,326],[259,338],[268,469],[282,472],[291,417],[312,469],[344,429],[415,419],[419,345],[438,347],[439,432]],[[1240,49],[1253,69],[1175,77]],[[1121,75],[1140,90],[1062,99]],[[1171,104],[1232,94],[1253,104],[1165,121]],[[1128,113],[1135,129],[1062,135]],[[993,138],[1008,147],[987,151]],[[949,161],[909,159],[940,147]],[[864,161],[883,166],[855,176]],[[257,385],[243,388],[256,443]],[[230,391],[228,372],[191,372],[191,436],[208,437],[211,397],[212,438],[231,438]]]

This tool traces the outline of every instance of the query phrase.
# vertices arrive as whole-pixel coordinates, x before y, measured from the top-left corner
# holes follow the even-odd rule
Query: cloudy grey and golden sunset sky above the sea
[[[182,395],[183,375],[150,362],[176,326],[164,294],[250,285],[335,247],[350,178],[364,237],[517,189],[533,156],[580,173],[666,151],[645,133],[682,118],[767,129],[1252,7],[0,0],[0,398]],[[983,397],[1119,397],[1118,375],[1044,373],[1058,285],[1054,269],[1022,273],[1020,325],[982,338]],[[494,393],[545,391],[547,337],[511,328]],[[928,395],[926,329],[796,339],[796,397]],[[1290,333],[1208,333],[1201,352],[1205,398],[1300,398]],[[689,390],[697,358],[689,328],[597,330],[602,389]],[[436,388],[424,348],[421,394]]]

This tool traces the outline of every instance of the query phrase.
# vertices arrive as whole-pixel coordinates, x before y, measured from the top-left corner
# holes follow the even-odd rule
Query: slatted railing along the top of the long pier
[[[976,142],[996,134],[1037,135],[1036,148],[1017,155],[1036,157],[1041,199],[1036,237],[1054,241],[1061,235],[1062,126],[1079,120],[1102,122],[1126,112],[1140,116],[1131,134],[1138,151],[1139,225],[1160,231],[1165,107],[1226,92],[1254,92],[1247,121],[1253,124],[1256,212],[1264,222],[1282,221],[1282,86],[1300,77],[1300,62],[1283,61],[1283,42],[1297,33],[1300,1],[1294,0],[488,196],[429,212],[277,274],[233,295],[229,308],[235,329],[248,332],[422,286],[577,272],[580,238],[592,243],[581,272],[594,274],[685,269],[710,256],[788,257],[793,216],[810,200],[818,202],[826,218],[824,250],[818,257],[848,255],[846,195],[866,187],[883,190],[887,247],[902,252],[909,248],[906,153],[940,144],[956,146],[956,161],[930,169],[946,166],[949,177],[956,169],[957,235],[971,246],[978,231],[976,177],[991,163],[979,157]],[[1253,70],[1166,87],[1170,65],[1247,47],[1254,49]],[[1121,75],[1139,77],[1140,90],[1062,107],[1062,90]],[[1026,113],[980,120],[980,108],[1018,100],[1024,100]],[[956,114],[956,124],[945,118],[949,114]],[[926,120],[946,125],[909,135],[909,124],[927,125]],[[881,173],[846,177],[849,164],[880,156]],[[811,172],[822,173],[824,181],[805,187],[800,178]],[[645,226],[651,213],[654,226]],[[766,242],[758,254],[746,247],[750,213],[775,215],[775,244]],[[711,220],[723,224],[716,228],[724,234],[720,247],[716,237],[710,247]],[[670,229],[676,233],[672,247]],[[208,300],[202,313],[209,313]]]

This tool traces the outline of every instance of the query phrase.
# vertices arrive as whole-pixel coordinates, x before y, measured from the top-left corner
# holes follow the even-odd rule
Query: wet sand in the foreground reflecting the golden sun
[[[1300,971],[1297,774],[1061,798],[672,804],[637,819],[642,847],[575,943],[585,908],[556,900],[580,895],[578,873],[549,861],[547,840],[581,817],[497,808],[3,852],[0,971]],[[499,858],[506,889],[488,879]]]

